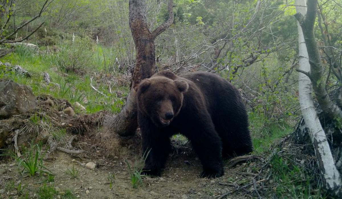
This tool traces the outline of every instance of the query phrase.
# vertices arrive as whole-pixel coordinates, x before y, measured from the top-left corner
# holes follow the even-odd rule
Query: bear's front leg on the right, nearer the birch
[[[197,116],[189,119],[192,121],[184,122],[188,126],[182,130],[182,134],[188,137],[202,163],[203,172],[200,177],[221,177],[224,173],[221,138],[210,117],[200,114]]]

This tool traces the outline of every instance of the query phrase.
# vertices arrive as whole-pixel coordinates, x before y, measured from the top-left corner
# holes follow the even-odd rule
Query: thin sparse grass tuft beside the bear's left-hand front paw
[[[128,172],[130,174],[131,178],[131,184],[133,188],[137,188],[139,185],[143,186],[143,179],[142,179],[142,172],[144,171],[143,168],[139,169],[139,166],[145,162],[150,150],[146,153],[144,152],[143,156],[140,158],[140,160],[135,160],[133,167],[131,167],[130,163],[125,160],[127,166],[128,166]]]

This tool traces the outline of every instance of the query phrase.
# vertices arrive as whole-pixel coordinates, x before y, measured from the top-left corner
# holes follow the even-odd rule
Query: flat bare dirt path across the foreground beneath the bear
[[[63,152],[57,152],[55,160],[45,161],[47,168],[55,175],[54,186],[59,192],[56,198],[63,196],[66,190],[71,190],[79,198],[215,198],[234,187],[219,183],[240,182],[238,171],[245,170],[244,165],[236,169],[225,169],[225,175],[217,179],[199,178],[201,165],[193,156],[177,155],[167,163],[167,168],[161,177],[144,177],[143,186],[133,188],[128,167],[123,160],[98,159],[100,162],[95,170],[90,170],[72,161],[73,157]],[[81,160],[82,161],[82,160]],[[83,160],[87,162],[89,160]],[[91,160],[96,162],[96,160]],[[134,160],[131,160],[134,161]],[[184,161],[188,161],[185,163]],[[67,174],[67,168],[79,170],[77,178]],[[37,198],[37,191],[42,186],[41,181],[46,176],[21,177],[14,162],[1,164],[7,170],[0,176],[0,189],[6,190],[6,185],[14,182],[26,186],[26,191],[32,198]],[[110,176],[115,175],[112,189]],[[247,179],[246,179],[247,180]],[[36,184],[39,183],[39,184]],[[88,193],[88,191],[89,193]],[[245,191],[244,191],[245,192]],[[88,193],[88,194],[87,194]],[[16,198],[15,191],[6,190],[3,198]],[[245,198],[240,195],[235,198]],[[1,198],[1,197],[0,197]]]

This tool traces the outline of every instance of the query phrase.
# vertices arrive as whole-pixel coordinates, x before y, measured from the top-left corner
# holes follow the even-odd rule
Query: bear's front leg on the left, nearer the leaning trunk
[[[142,134],[145,155],[145,167],[142,174],[160,176],[171,149],[167,129],[157,128],[149,118],[138,113],[138,123]]]

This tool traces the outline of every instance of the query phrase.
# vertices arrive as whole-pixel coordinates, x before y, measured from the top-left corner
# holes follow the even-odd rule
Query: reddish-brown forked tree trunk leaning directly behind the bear
[[[126,105],[110,124],[110,130],[121,136],[135,133],[137,128],[136,92],[134,88],[142,79],[153,75],[155,69],[154,40],[173,23],[173,2],[169,0],[169,19],[150,32],[146,23],[145,0],[129,1],[129,25],[136,48],[135,67],[132,76],[131,90],[127,96]]]

